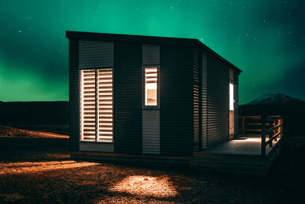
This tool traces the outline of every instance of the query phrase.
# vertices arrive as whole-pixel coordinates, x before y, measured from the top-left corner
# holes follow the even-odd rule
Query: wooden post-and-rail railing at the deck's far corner
[[[240,116],[242,119],[241,132],[243,135],[249,132],[259,132],[262,138],[261,154],[266,154],[266,146],[273,147],[273,140],[283,136],[283,116]],[[245,122],[247,120],[247,122]],[[259,128],[260,127],[260,128]],[[266,135],[269,140],[266,141]]]

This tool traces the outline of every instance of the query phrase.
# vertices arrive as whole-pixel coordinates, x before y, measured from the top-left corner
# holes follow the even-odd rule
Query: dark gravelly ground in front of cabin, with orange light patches
[[[286,145],[266,176],[74,161],[68,150],[16,151],[0,158],[0,203],[301,203],[304,147]]]

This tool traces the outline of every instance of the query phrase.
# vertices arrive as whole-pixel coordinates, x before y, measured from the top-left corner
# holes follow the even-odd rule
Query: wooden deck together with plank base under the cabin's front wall
[[[179,166],[202,172],[219,171],[265,175],[284,146],[285,138],[282,137],[277,142],[273,141],[272,148],[267,145],[265,155],[261,154],[260,135],[242,135],[242,138],[247,139],[228,140],[195,152],[192,156],[75,151],[71,153],[71,158],[111,163]]]

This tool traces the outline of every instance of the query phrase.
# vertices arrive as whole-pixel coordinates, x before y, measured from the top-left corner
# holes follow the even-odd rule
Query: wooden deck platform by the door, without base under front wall
[[[199,171],[220,171],[265,175],[276,155],[284,145],[284,138],[266,146],[266,155],[261,155],[261,137],[243,135],[194,153],[190,168]],[[266,141],[269,137],[266,137]]]

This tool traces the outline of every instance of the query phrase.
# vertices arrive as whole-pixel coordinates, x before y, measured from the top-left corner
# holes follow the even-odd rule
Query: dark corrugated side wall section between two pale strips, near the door
[[[229,71],[208,56],[208,146],[229,138]]]

